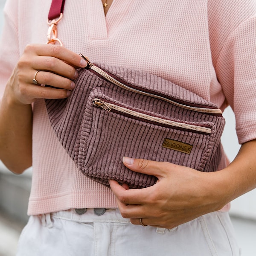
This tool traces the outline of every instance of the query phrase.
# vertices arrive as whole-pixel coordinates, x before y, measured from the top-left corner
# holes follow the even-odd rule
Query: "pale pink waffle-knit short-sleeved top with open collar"
[[[46,43],[50,4],[7,0],[1,95],[24,47]],[[222,110],[231,105],[239,143],[256,138],[254,0],[114,0],[106,17],[101,0],[66,0],[58,37],[91,62],[145,70]],[[78,171],[49,125],[44,100],[37,100],[28,214],[84,207],[116,207],[116,201],[111,189]]]

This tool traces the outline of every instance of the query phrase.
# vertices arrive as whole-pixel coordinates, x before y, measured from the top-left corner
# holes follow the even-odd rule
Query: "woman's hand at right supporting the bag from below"
[[[110,180],[119,210],[132,224],[173,228],[227,204],[220,172],[199,172],[167,162],[123,158],[129,169],[154,175],[158,181],[143,189],[128,189]],[[223,184],[222,184],[223,185]]]

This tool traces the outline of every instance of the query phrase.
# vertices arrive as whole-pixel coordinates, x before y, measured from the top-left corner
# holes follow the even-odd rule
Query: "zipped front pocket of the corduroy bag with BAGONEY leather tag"
[[[215,137],[212,122],[181,122],[91,93],[82,123],[78,166],[94,180],[109,179],[132,188],[157,178],[126,168],[122,157],[168,161],[204,171]]]

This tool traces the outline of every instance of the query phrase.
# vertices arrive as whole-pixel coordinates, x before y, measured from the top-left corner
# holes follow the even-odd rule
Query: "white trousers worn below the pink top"
[[[239,256],[227,212],[212,212],[172,230],[133,225],[119,211],[74,209],[31,216],[17,256]]]

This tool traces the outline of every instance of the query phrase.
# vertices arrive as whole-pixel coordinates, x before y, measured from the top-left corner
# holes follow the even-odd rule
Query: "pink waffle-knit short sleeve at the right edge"
[[[242,144],[256,138],[256,1],[209,0],[208,22],[212,63]]]

